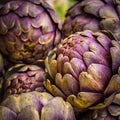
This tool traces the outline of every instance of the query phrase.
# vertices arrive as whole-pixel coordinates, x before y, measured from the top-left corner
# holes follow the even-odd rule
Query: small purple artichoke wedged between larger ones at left
[[[41,62],[42,63],[42,62]],[[5,74],[4,96],[21,94],[31,91],[45,91],[45,68],[35,64],[17,64],[12,66]]]

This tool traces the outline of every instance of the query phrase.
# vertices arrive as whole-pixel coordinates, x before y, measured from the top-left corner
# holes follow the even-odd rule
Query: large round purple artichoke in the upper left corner
[[[0,28],[0,51],[14,63],[44,59],[61,37],[60,20],[43,0],[2,1]]]

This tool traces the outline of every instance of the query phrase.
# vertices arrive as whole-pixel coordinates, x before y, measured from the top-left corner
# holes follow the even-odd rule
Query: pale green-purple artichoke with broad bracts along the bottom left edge
[[[46,92],[11,95],[0,104],[1,120],[75,120],[72,106]]]

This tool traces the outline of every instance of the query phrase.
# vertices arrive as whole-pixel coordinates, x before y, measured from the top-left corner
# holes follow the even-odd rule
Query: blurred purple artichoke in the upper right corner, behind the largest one
[[[119,0],[82,0],[66,14],[63,37],[82,30],[110,30],[120,40]]]

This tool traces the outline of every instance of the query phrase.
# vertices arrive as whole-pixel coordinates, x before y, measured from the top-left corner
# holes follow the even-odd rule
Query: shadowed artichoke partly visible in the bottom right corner
[[[80,114],[78,120],[119,120],[120,119],[120,93],[114,101],[102,110],[88,111]]]

